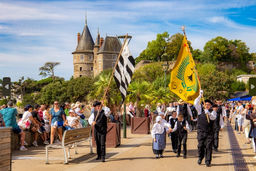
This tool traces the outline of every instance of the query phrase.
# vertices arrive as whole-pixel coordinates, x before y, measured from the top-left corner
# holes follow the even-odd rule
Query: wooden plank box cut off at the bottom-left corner
[[[0,127],[0,170],[11,170],[12,127]]]

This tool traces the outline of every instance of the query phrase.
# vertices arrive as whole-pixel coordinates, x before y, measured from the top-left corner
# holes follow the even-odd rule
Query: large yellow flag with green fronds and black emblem
[[[195,71],[195,62],[189,52],[188,42],[184,36],[180,53],[171,72],[169,88],[185,102],[194,104],[199,96],[199,80]]]

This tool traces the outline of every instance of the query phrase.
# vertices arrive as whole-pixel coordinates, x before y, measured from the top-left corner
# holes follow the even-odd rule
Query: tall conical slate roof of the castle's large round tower
[[[92,35],[89,31],[87,24],[85,24],[84,30],[79,39],[76,50],[72,52],[72,54],[78,53],[78,52],[93,52],[93,46],[94,46],[94,41],[92,39]]]

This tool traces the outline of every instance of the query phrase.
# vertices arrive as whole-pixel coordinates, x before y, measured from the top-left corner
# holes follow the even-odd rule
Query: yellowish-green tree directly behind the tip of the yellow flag
[[[166,47],[166,54],[168,55],[168,57],[170,57],[168,61],[176,61],[180,53],[180,48],[181,48],[183,39],[184,39],[184,35],[182,35],[181,33],[176,33],[168,39],[167,47]],[[193,48],[191,46],[190,41],[188,41],[188,45],[189,45],[190,51],[192,52]]]

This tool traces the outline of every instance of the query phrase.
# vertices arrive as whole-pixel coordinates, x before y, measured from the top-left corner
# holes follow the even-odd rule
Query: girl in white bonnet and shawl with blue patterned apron
[[[151,130],[151,136],[153,138],[153,152],[156,155],[156,158],[164,157],[163,150],[165,149],[165,130],[164,128],[169,128],[169,131],[172,132],[171,125],[167,122],[162,122],[162,117],[156,117],[156,123],[154,124]]]

